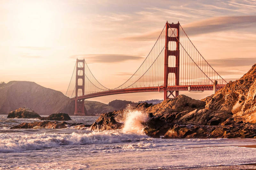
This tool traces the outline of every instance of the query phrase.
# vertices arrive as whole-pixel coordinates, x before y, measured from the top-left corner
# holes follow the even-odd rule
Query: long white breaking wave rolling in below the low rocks
[[[0,137],[0,152],[21,152],[38,150],[60,145],[111,144],[147,138],[146,135],[123,133],[122,130],[105,130],[88,134],[37,134],[12,137],[4,134]]]

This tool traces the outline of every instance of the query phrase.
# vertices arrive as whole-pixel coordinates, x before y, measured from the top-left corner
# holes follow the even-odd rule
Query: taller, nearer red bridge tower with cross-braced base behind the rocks
[[[171,28],[171,29],[169,29]],[[176,29],[176,30],[174,30]],[[174,30],[174,31],[173,31]],[[174,36],[171,36],[172,31]],[[168,36],[168,33],[170,36]],[[174,41],[176,43],[176,49],[171,50],[168,48],[169,42],[172,43]],[[164,50],[164,100],[169,99],[170,95],[173,97],[176,97],[179,95],[179,91],[169,91],[170,94],[167,95],[167,86],[168,86],[168,77],[169,73],[174,73],[175,74],[175,85],[179,85],[179,73],[180,73],[180,23],[178,22],[177,24],[168,24],[166,22],[165,24],[165,50]],[[169,57],[170,56],[175,56],[175,67],[169,67]],[[175,92],[175,96],[173,94]]]

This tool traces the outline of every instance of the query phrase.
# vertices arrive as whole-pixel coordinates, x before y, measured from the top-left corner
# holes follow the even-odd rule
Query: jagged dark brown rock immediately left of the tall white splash
[[[124,124],[116,122],[116,114],[114,112],[101,114],[100,117],[91,126],[91,130],[112,130],[122,129]]]

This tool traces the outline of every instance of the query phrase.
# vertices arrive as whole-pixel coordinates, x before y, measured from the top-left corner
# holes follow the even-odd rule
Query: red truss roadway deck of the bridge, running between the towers
[[[220,90],[225,85],[216,85],[216,91]],[[167,86],[167,91],[213,91],[213,85],[179,85],[179,86]],[[100,96],[108,96],[114,94],[124,94],[124,93],[136,93],[136,92],[164,92],[163,86],[157,87],[139,87],[139,88],[129,88],[129,89],[120,89],[120,90],[109,90],[104,92],[96,92],[91,94],[85,94],[82,96],[78,96],[77,100],[82,99],[90,99],[94,97]],[[71,98],[72,100],[76,100],[76,97]]]

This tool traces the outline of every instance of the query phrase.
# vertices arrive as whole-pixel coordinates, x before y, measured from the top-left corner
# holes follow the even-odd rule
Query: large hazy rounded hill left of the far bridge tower
[[[62,112],[74,114],[75,104],[63,93],[34,82],[10,81],[0,85],[0,113],[29,107],[40,115]]]

